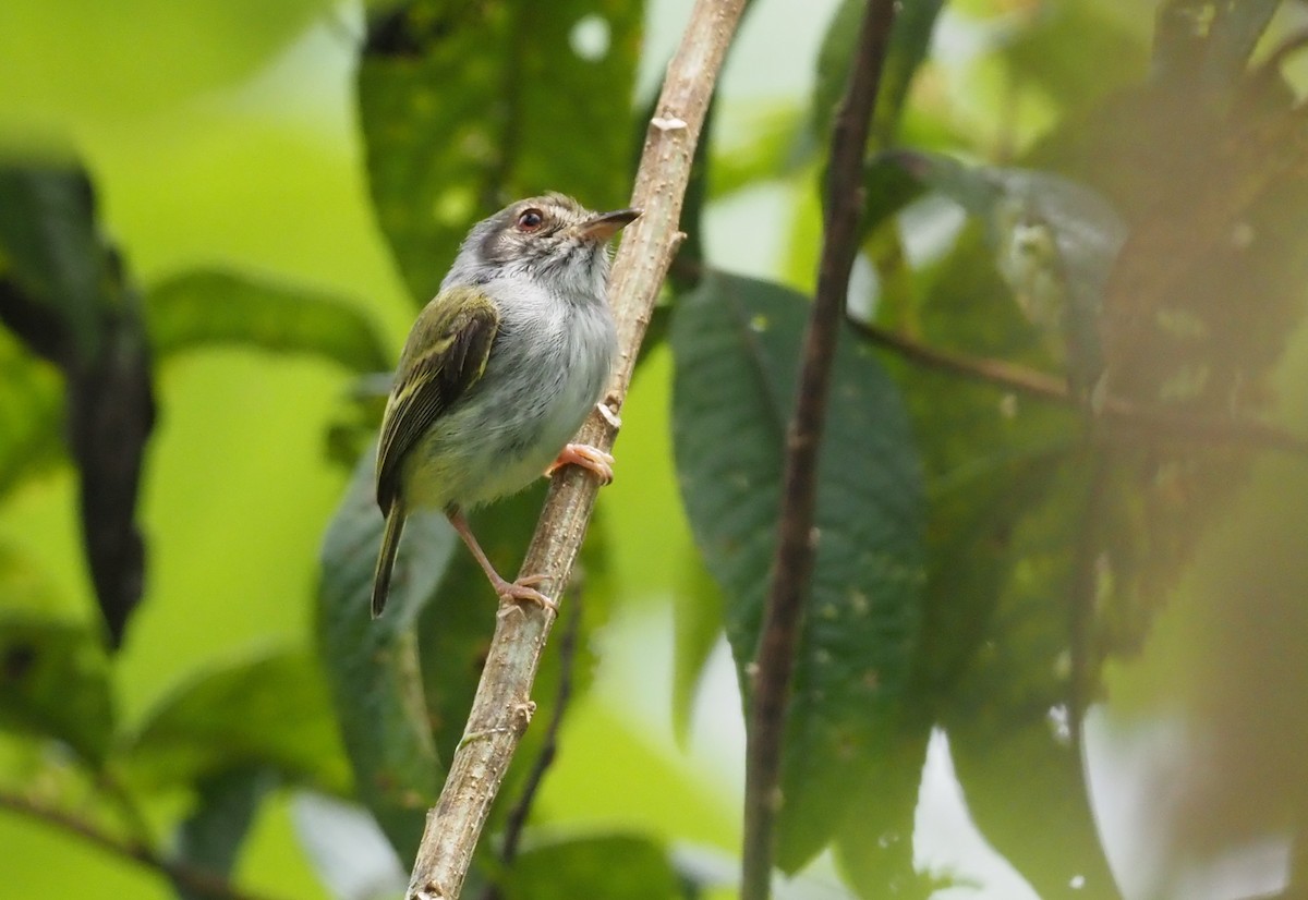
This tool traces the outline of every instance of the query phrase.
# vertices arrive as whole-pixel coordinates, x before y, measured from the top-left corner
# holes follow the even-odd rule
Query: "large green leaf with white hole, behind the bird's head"
[[[369,183],[415,298],[513,199],[625,203],[642,25],[628,0],[416,0],[373,18],[358,73]]]

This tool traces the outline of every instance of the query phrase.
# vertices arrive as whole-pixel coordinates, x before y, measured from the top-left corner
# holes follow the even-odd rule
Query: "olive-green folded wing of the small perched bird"
[[[390,511],[409,450],[487,368],[500,313],[476,288],[449,288],[413,323],[396,368],[377,447],[377,505]]]

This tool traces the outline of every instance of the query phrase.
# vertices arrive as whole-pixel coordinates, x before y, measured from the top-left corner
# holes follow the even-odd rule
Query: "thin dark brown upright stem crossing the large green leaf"
[[[853,72],[832,133],[818,296],[804,335],[798,402],[786,436],[772,593],[759,637],[747,723],[743,900],[765,900],[769,896],[790,676],[814,565],[818,450],[827,417],[831,361],[845,310],[849,273],[858,252],[867,130],[893,21],[895,0],[869,0]]]

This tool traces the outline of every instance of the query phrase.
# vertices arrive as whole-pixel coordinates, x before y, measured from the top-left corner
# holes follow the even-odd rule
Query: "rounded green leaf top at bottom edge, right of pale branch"
[[[518,856],[501,884],[505,900],[679,900],[667,850],[628,835],[577,837]]]

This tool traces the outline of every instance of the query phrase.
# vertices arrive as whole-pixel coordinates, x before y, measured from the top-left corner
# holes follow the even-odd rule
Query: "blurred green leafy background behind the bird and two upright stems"
[[[0,896],[68,874],[105,897],[400,892],[373,845],[412,858],[494,600],[443,518],[416,515],[391,608],[366,615],[386,323],[506,200],[624,201],[666,7],[0,10]],[[695,748],[751,691],[795,288],[862,9],[821,5],[808,93],[742,103],[729,77],[714,98],[568,593],[576,645],[544,657],[468,895],[730,895],[739,798]],[[794,56],[793,14],[753,4],[742,42],[772,29]],[[931,832],[937,742],[1025,883],[991,896],[1188,897],[1241,846],[1301,854],[1305,21],[1296,0],[904,4],[849,186],[862,254],[780,798],[797,893],[968,896],[974,867]],[[224,169],[246,143],[279,149]],[[283,209],[306,171],[347,187]],[[757,268],[721,271],[723,235]],[[496,565],[540,497],[473,518]],[[1092,709],[1117,717],[1097,743]],[[1097,780],[1125,780],[1103,760],[1126,751],[1105,742],[1172,721],[1186,739],[1152,788],[1182,799],[1113,819]],[[298,791],[317,814],[286,815]],[[341,839],[351,816],[375,840]],[[1279,875],[1301,892],[1301,869]]]

